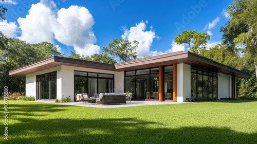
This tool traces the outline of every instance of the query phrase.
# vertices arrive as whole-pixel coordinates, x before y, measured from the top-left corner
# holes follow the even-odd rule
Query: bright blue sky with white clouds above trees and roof
[[[48,41],[65,56],[100,53],[113,39],[139,41],[139,57],[187,50],[176,45],[184,30],[208,32],[208,47],[222,40],[219,29],[229,20],[232,1],[135,0],[7,0],[7,21],[1,26],[8,37],[29,43]]]

